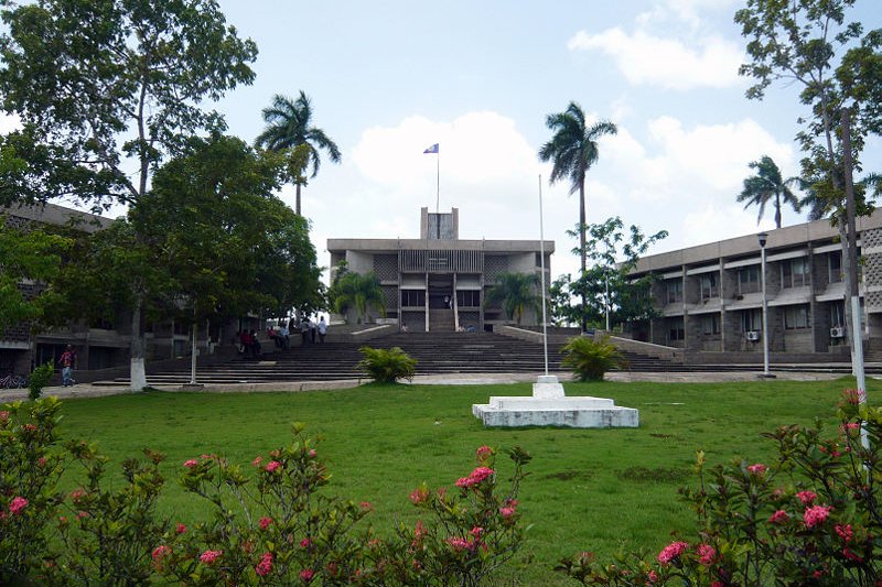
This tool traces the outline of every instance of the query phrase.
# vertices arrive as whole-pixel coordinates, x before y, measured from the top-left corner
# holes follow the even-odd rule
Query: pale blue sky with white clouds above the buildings
[[[579,197],[548,184],[537,152],[551,138],[546,116],[571,100],[619,128],[588,174],[589,222],[667,230],[649,253],[774,228],[772,209],[757,225],[735,197],[762,155],[797,174],[806,111],[795,86],[744,97],[733,22],[743,2],[219,0],[260,53],[255,83],[214,107],[250,142],[273,95],[311,98],[314,124],[343,155],[323,156],[302,194],[321,265],[329,238],[418,238],[420,208],[433,211],[439,195],[441,211],[459,208],[460,238],[538,239],[541,187],[557,276],[578,270],[564,231]],[[858,0],[851,15],[882,26],[878,0]],[[439,155],[423,154],[434,143]],[[880,151],[875,141],[864,161]],[[281,197],[293,207],[291,186]]]

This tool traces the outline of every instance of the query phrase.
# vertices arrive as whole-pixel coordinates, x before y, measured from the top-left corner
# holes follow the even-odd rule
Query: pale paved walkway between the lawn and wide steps
[[[785,381],[831,381],[842,377],[840,373],[820,372],[799,372],[799,371],[772,371],[778,380]],[[630,373],[614,371],[606,373],[609,381],[657,381],[660,383],[684,382],[722,382],[722,381],[756,381],[761,370],[757,371],[703,371],[688,373]],[[536,381],[536,374],[530,373],[451,373],[441,376],[417,376],[413,384],[421,385],[484,385],[523,383]],[[562,382],[567,382],[561,378]],[[232,383],[232,384],[209,384],[198,388],[198,391],[212,393],[227,392],[270,392],[270,391],[320,391],[355,388],[366,380],[343,379],[338,381],[278,381],[272,383]],[[182,385],[157,385],[162,391],[195,391]],[[123,385],[93,385],[90,383],[77,383],[69,388],[49,387],[43,390],[43,395],[55,395],[60,399],[67,398],[100,398],[105,395],[117,395],[128,393],[129,389]],[[0,391],[0,403],[12,402],[28,399],[28,390],[2,390]]]

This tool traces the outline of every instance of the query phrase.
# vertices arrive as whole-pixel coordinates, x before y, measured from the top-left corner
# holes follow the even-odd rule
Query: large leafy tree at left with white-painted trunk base
[[[2,7],[0,96],[23,124],[3,146],[28,164],[2,178],[4,197],[137,204],[164,156],[194,133],[223,126],[200,104],[255,77],[249,64],[257,47],[226,24],[215,0],[4,0]],[[142,286],[132,275],[133,390],[147,383]]]

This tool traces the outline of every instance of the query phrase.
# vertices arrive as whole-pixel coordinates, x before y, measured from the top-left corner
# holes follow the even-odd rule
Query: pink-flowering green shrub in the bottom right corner
[[[601,563],[582,553],[558,569],[584,585],[880,585],[882,409],[847,390],[838,416],[832,435],[820,423],[767,434],[775,464],[707,470],[699,453],[698,487],[681,490],[698,514],[695,540],[676,540],[655,559],[631,553]]]

